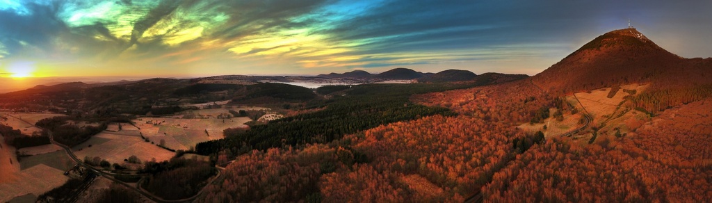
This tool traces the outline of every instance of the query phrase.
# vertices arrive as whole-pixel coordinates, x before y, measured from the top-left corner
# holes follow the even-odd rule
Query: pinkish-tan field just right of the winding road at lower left
[[[155,158],[157,161],[169,160],[174,155],[174,152],[145,142],[140,136],[117,135],[107,131],[73,147],[73,151],[80,159],[85,156],[101,157],[111,163],[123,163],[124,159],[131,155],[136,155],[141,160]]]

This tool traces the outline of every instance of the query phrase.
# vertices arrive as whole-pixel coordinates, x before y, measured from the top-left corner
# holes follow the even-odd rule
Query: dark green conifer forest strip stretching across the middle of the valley
[[[273,120],[266,125],[254,125],[244,133],[226,130],[225,139],[201,142],[196,150],[201,155],[215,155],[221,150],[234,150],[244,145],[266,150],[270,147],[325,143],[387,123],[428,115],[455,115],[446,108],[414,104],[409,97],[416,93],[462,87],[449,84],[358,85],[347,91],[345,97],[335,97],[312,106],[325,106],[324,110]]]

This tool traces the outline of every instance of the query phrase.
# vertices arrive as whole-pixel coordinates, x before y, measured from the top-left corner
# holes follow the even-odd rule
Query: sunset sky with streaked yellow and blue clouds
[[[712,1],[0,0],[0,78],[534,75],[626,28],[711,57]]]

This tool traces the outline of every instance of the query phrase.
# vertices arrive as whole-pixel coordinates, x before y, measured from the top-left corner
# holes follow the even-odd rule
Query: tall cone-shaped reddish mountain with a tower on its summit
[[[533,76],[533,83],[561,93],[627,83],[654,82],[654,88],[664,88],[710,83],[710,73],[712,58],[681,58],[657,46],[637,29],[625,28],[586,43]]]

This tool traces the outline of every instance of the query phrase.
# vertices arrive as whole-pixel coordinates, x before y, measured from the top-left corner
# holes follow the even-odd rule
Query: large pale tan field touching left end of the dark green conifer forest
[[[182,119],[182,118],[138,118],[134,123],[151,142],[174,150],[189,150],[199,142],[223,138],[223,130],[232,127],[247,127],[250,118],[226,119]],[[123,131],[123,130],[122,130]],[[120,131],[120,132],[122,132]],[[207,133],[206,133],[207,132]]]

